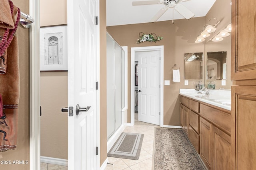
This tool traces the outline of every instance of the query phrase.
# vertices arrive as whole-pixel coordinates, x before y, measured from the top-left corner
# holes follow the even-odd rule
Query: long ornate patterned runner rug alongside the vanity
[[[153,170],[206,170],[182,129],[155,128]]]

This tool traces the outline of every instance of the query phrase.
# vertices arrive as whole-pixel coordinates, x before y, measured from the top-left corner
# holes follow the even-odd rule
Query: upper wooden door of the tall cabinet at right
[[[256,79],[255,8],[255,0],[232,0],[231,80]]]

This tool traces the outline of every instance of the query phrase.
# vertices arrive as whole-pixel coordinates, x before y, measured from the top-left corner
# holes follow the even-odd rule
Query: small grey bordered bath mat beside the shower
[[[116,143],[109,150],[108,156],[138,160],[144,134],[121,133]]]

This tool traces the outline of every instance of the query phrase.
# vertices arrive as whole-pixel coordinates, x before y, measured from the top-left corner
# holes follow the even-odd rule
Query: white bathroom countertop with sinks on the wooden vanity
[[[198,94],[194,89],[180,89],[180,95],[231,110],[231,90],[209,90],[210,95]]]

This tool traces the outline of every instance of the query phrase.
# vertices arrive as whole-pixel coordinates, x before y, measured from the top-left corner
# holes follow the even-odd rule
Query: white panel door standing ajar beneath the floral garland
[[[138,121],[160,125],[160,51],[137,52]]]

